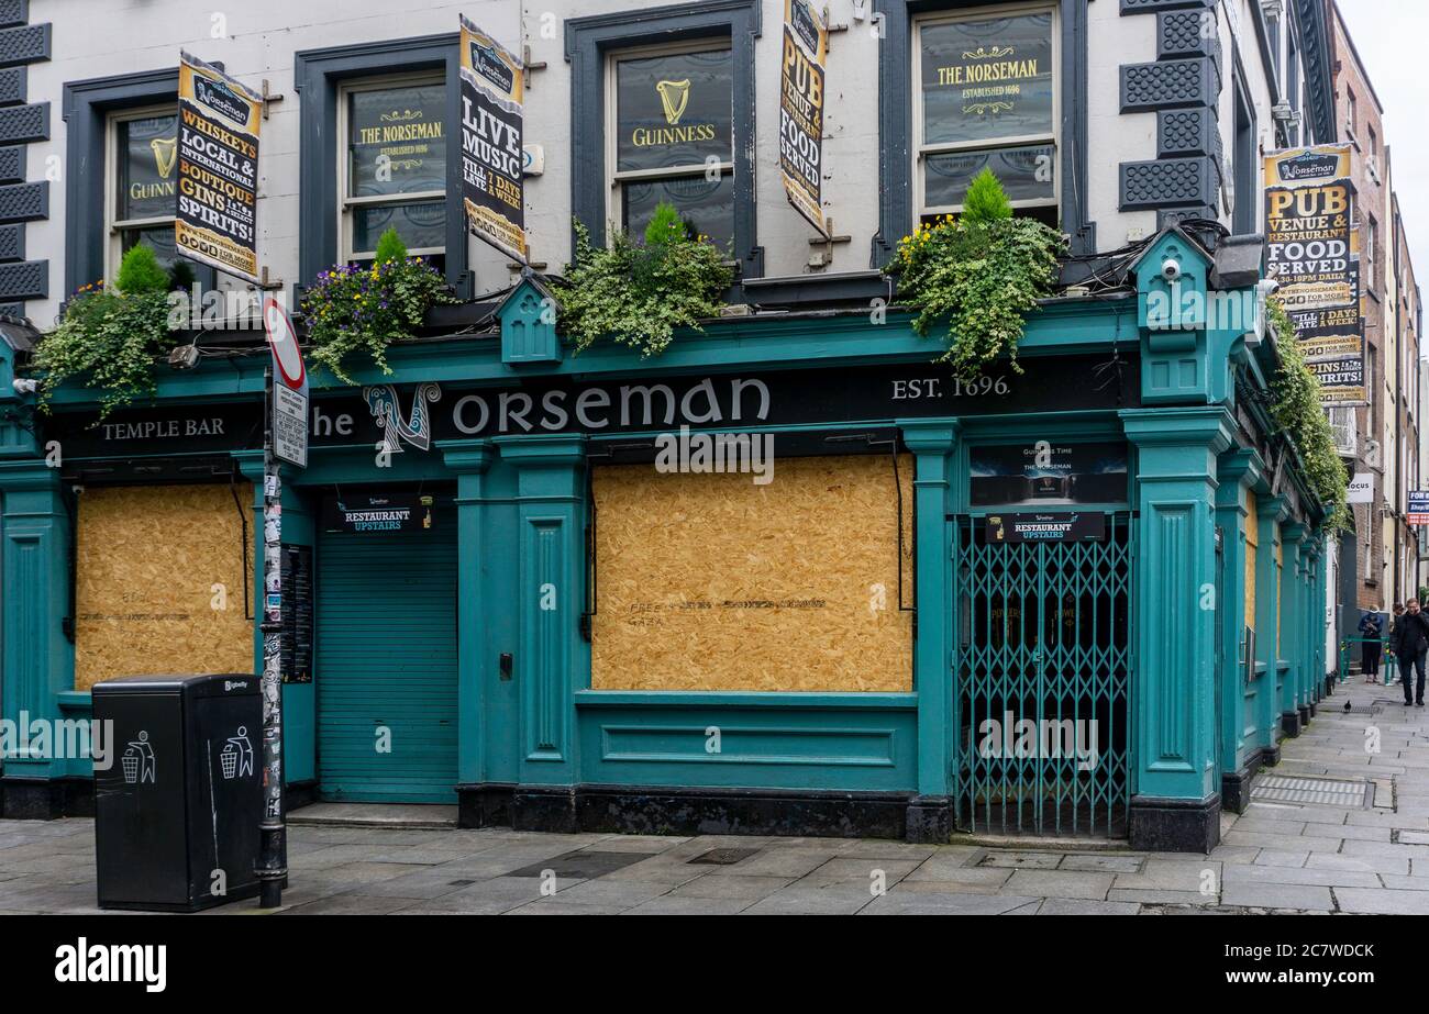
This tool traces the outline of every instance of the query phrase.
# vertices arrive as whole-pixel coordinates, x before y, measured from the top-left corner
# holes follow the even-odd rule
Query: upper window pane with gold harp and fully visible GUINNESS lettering
[[[679,53],[616,64],[616,167],[697,166],[733,160],[730,50]]]

